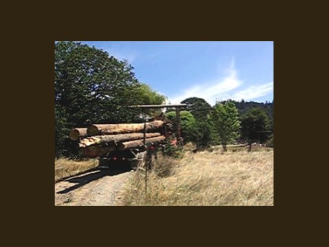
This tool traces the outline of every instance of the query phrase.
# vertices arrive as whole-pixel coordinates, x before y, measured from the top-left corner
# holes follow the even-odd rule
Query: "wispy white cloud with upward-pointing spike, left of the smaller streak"
[[[242,81],[237,78],[234,59],[232,59],[226,73],[227,75],[224,78],[212,82],[204,82],[201,85],[193,85],[180,95],[169,97],[169,102],[171,104],[177,104],[188,97],[201,97],[209,104],[215,104],[216,99],[223,97],[224,94],[238,88],[242,84]]]

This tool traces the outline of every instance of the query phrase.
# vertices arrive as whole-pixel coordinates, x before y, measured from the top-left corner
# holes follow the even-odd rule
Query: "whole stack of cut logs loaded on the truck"
[[[170,125],[169,125],[170,126]],[[164,142],[165,123],[161,120],[146,124],[146,143]],[[96,158],[116,150],[140,148],[144,145],[144,124],[93,124],[88,128],[75,128],[69,137],[80,140],[84,156]]]

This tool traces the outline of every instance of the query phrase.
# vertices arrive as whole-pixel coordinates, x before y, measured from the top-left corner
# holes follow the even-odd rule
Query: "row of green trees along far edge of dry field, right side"
[[[187,104],[180,112],[182,137],[185,142],[197,145],[197,150],[210,145],[231,143],[267,143],[273,147],[273,103],[217,102],[210,106],[198,97],[184,99]],[[175,112],[169,109],[166,116],[174,121]]]

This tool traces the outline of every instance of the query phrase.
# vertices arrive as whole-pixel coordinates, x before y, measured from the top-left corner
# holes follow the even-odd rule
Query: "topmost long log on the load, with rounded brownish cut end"
[[[148,122],[147,132],[158,130],[164,124],[164,121],[156,120]],[[123,134],[132,132],[141,132],[144,130],[144,124],[93,124],[87,128],[88,137],[104,134]]]

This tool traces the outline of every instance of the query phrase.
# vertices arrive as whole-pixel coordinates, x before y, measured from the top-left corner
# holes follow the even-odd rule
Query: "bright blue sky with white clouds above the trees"
[[[255,102],[273,100],[273,42],[80,41],[134,67],[136,78],[166,95]]]

